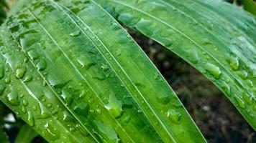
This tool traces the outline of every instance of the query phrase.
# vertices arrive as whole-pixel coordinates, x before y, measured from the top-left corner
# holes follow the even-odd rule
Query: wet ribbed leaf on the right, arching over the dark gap
[[[256,129],[255,16],[221,1],[97,1],[201,71]]]

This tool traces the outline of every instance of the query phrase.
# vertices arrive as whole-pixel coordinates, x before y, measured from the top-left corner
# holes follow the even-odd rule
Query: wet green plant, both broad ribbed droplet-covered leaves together
[[[1,26],[0,99],[47,141],[206,142],[115,19],[201,71],[256,128],[256,19],[237,7],[45,0],[21,9]]]

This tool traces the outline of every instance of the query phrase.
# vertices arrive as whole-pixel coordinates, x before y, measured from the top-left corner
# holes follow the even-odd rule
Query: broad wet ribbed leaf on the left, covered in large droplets
[[[114,18],[93,1],[59,2],[1,26],[2,102],[49,142],[205,142]]]

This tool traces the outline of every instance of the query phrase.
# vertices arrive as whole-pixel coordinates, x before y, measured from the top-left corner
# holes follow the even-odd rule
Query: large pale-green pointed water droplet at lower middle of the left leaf
[[[122,102],[116,99],[113,92],[109,95],[109,104],[106,104],[105,108],[108,109],[115,118],[120,117],[123,112]]]

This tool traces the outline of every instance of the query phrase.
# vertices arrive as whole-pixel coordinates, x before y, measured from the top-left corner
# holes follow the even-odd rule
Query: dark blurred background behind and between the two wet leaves
[[[255,1],[226,1],[256,15]],[[12,7],[14,2],[14,0],[0,0],[0,24],[6,18],[6,11]],[[208,142],[256,142],[254,129],[247,124],[231,102],[206,77],[152,39],[125,28],[173,87]],[[0,139],[3,139],[1,128],[9,137],[10,142],[25,143],[22,141],[24,132],[29,132],[32,142],[46,142],[0,102]],[[4,140],[0,142],[5,143]]]

